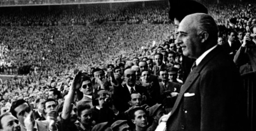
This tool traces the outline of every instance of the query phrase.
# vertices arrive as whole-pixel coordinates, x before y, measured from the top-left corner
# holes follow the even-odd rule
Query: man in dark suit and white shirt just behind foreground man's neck
[[[230,58],[233,60],[235,53],[240,48],[241,44],[239,41],[235,40],[235,35],[237,32],[230,30],[228,32],[228,41],[225,42],[222,47],[230,55]]]

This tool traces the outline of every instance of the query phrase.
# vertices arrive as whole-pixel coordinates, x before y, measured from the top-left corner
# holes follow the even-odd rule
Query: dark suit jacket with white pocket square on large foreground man
[[[217,46],[190,72],[166,129],[247,131],[244,94],[234,62]]]

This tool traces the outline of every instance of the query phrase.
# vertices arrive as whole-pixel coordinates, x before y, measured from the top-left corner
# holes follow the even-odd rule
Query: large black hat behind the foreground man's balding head
[[[181,21],[185,16],[192,13],[208,13],[207,8],[194,0],[169,0],[169,18],[177,18]]]

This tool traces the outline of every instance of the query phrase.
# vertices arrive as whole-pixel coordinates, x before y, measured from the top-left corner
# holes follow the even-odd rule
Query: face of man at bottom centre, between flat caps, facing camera
[[[140,128],[147,128],[147,115],[143,110],[135,111],[135,119],[132,119],[133,124]]]

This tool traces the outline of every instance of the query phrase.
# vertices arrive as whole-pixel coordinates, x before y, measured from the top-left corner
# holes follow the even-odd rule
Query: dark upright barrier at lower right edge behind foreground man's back
[[[243,86],[247,91],[247,116],[249,120],[249,131],[256,130],[256,72],[242,75]]]

